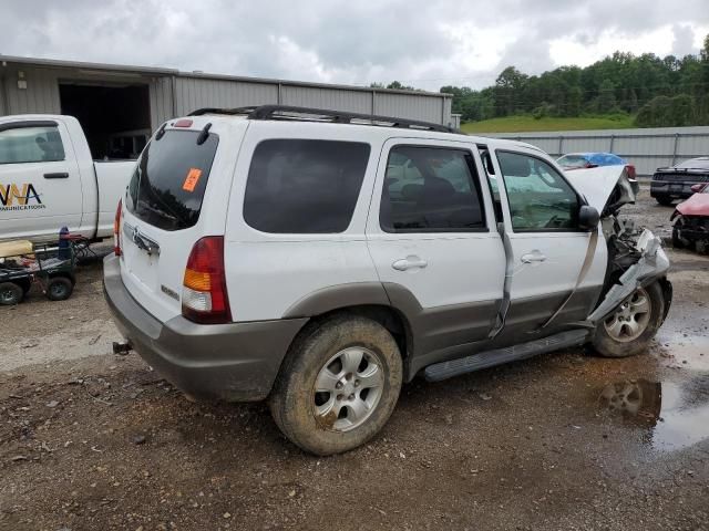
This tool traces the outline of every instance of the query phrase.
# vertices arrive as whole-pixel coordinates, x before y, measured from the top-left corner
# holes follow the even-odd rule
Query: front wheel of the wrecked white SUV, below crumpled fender
[[[604,357],[646,352],[662,324],[665,299],[659,282],[638,288],[594,333],[593,346]]]

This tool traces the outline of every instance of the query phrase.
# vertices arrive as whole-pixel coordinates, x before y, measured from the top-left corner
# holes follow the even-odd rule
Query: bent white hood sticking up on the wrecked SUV
[[[564,175],[576,191],[586,198],[588,205],[602,215],[607,207],[617,209],[621,205],[635,202],[635,192],[625,166],[574,169],[564,171]]]

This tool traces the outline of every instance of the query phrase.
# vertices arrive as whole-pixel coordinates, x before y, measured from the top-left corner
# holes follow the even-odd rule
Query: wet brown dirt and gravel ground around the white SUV
[[[670,208],[628,211],[669,233]],[[109,354],[83,267],[69,301],[0,308],[0,529],[709,529],[709,258],[670,259],[647,355],[414,381],[378,438],[331,458],[261,404],[189,403]]]

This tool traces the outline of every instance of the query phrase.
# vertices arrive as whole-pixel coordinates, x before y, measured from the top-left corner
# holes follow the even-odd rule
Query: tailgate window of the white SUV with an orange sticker
[[[167,131],[147,145],[129,185],[130,212],[163,230],[187,229],[197,222],[219,143],[212,133],[198,145],[198,135]]]

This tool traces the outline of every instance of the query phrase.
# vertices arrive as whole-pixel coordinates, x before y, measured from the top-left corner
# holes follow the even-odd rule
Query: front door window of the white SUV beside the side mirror
[[[497,152],[513,230],[577,228],[578,197],[549,164],[521,153]]]

